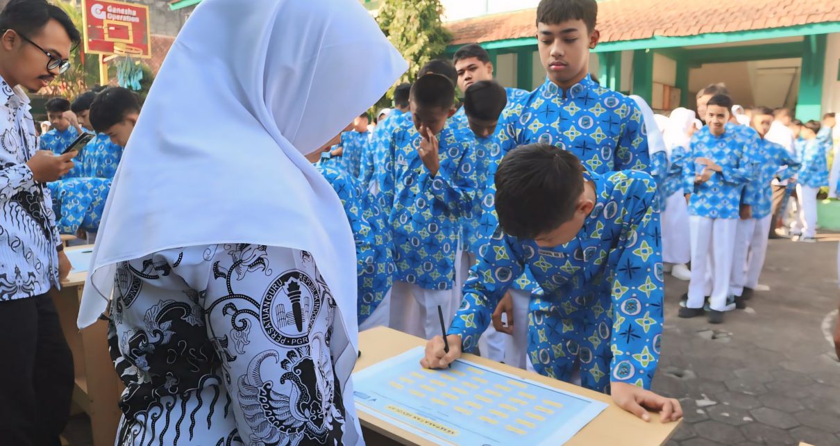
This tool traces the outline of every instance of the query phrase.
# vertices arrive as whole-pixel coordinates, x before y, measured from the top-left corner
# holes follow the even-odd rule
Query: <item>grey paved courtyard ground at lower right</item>
[[[837,240],[770,240],[761,277],[770,291],[722,325],[677,318],[688,283],[668,276],[654,390],[685,409],[670,446],[840,446],[840,363],[826,338],[836,316],[823,327],[840,301]],[[84,415],[72,419],[73,446],[90,445],[89,426]]]

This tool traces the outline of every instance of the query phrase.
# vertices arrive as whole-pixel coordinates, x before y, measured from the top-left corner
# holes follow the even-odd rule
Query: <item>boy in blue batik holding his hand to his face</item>
[[[381,181],[395,245],[391,327],[424,338],[440,332],[438,306],[446,317],[458,306],[459,218],[475,188],[470,130],[447,124],[454,93],[445,76],[417,78],[412,125],[395,129],[386,161],[392,169]]]

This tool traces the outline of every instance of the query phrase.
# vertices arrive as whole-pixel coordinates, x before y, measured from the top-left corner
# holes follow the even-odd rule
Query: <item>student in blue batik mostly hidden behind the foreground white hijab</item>
[[[329,149],[333,142],[338,141],[330,141],[324,148]],[[370,193],[362,190],[358,181],[346,171],[318,162],[323,160],[322,152],[328,153],[328,150],[316,150],[306,157],[333,186],[353,230],[359,287],[356,308],[359,328],[365,330],[387,326],[394,262],[391,231],[386,226],[386,216],[376,206]]]

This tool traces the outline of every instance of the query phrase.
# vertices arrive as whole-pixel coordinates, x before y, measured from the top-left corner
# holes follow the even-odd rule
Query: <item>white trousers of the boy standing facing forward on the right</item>
[[[703,307],[706,288],[706,270],[711,271],[711,309],[726,311],[729,279],[732,275],[732,245],[738,226],[736,218],[707,218],[692,215],[691,228],[691,281],[688,286],[686,307]]]

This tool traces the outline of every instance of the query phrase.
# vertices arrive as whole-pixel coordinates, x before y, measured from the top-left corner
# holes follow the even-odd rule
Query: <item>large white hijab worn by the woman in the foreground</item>
[[[353,234],[339,198],[304,155],[406,69],[357,0],[202,2],[172,45],[120,162],[79,327],[105,311],[118,262],[206,244],[302,249],[338,304],[333,358],[339,378],[349,378],[358,338]],[[352,392],[344,397],[352,401]]]

